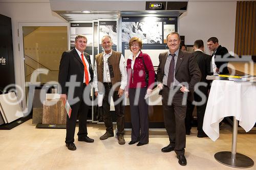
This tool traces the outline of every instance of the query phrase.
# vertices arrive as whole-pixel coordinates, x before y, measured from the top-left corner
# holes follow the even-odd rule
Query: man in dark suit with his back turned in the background
[[[204,120],[204,112],[206,109],[207,99],[208,99],[208,89],[209,89],[209,81],[206,80],[207,75],[211,75],[211,56],[204,54],[204,42],[203,40],[196,40],[194,42],[194,56],[196,62],[201,71],[201,80],[202,85],[198,87],[199,91],[194,92],[194,100],[197,102],[197,137],[207,137],[207,135],[203,131],[203,120]],[[204,84],[203,84],[204,83]],[[198,103],[199,102],[199,103]],[[195,105],[188,101],[187,103],[187,111],[185,118],[185,126],[186,133],[191,129],[191,118],[193,114]]]

